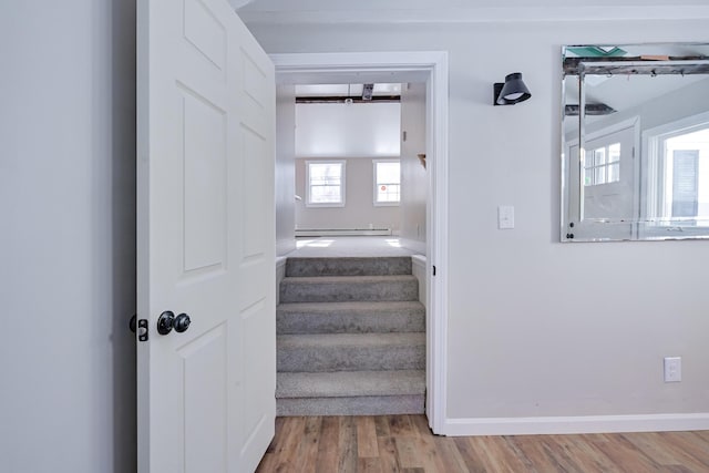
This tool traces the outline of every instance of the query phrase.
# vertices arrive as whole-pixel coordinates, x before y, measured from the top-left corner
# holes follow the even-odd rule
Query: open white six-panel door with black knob
[[[225,0],[138,0],[137,30],[138,471],[250,472],[276,415],[274,66]],[[160,335],[164,311],[192,323]]]

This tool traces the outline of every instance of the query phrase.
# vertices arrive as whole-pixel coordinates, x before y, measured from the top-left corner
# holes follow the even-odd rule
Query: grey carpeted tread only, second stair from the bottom
[[[279,335],[278,349],[377,348],[425,345],[425,332]]]

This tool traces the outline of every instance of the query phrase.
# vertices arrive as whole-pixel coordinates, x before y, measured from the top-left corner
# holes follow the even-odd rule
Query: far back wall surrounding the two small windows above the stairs
[[[302,200],[296,202],[296,225],[305,229],[367,229],[391,228],[399,232],[399,206],[374,206],[374,165],[372,158],[351,157],[346,162],[345,207],[306,206],[306,161],[296,160],[296,194]]]

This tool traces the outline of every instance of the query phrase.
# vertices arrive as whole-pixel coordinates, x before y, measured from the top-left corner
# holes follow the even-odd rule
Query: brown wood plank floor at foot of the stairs
[[[446,438],[423,415],[278,418],[257,472],[709,472],[709,431]]]

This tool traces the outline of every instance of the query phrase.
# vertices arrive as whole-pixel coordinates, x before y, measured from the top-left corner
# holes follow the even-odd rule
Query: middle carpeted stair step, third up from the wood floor
[[[425,308],[415,300],[291,302],[276,308],[279,335],[425,331]]]

